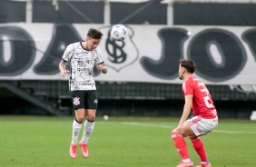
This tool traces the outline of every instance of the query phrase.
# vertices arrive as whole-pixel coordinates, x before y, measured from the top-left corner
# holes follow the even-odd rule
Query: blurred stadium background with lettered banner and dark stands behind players
[[[106,76],[95,71],[98,115],[180,116],[184,57],[195,60],[220,117],[249,118],[256,110],[255,11],[252,0],[0,1],[0,114],[74,114],[58,63],[92,26],[104,33],[110,67]],[[131,34],[123,47],[108,38],[116,24]],[[122,57],[109,44],[124,49],[126,62],[110,61]]]

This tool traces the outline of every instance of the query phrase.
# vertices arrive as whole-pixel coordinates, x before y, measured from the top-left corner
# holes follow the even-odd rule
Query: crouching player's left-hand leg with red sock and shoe
[[[182,132],[184,133],[183,135],[178,135],[176,133],[176,129],[172,130],[172,141],[174,142],[174,146],[182,157],[182,162],[179,162],[177,167],[193,166],[193,162],[189,156],[187,144],[184,140],[184,137],[188,135],[194,135],[188,123],[183,123]]]

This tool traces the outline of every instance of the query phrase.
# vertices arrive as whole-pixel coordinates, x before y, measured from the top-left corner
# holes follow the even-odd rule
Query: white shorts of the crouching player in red
[[[196,136],[205,135],[211,133],[212,129],[218,125],[218,116],[212,119],[204,119],[201,116],[194,116],[185,123],[189,123],[192,132]]]

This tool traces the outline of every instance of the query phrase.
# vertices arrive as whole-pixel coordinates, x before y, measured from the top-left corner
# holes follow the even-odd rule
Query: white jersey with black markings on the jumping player
[[[65,62],[70,62],[69,89],[96,90],[94,81],[94,64],[103,64],[103,54],[99,47],[87,51],[81,42],[69,44],[63,55]]]

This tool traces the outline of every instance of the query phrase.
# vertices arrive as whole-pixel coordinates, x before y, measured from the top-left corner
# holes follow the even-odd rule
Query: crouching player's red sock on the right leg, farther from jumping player
[[[201,162],[207,162],[207,155],[203,146],[203,142],[199,137],[190,138],[192,141],[192,146],[197,154],[200,156]]]

